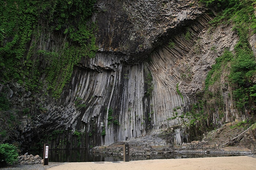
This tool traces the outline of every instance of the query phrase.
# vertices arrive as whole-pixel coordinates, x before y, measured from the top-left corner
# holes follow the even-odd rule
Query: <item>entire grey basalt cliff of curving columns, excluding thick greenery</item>
[[[97,0],[87,17],[95,24],[95,56],[77,54],[82,55],[77,64],[63,66],[61,72],[72,72],[63,88],[56,86],[58,97],[47,86],[49,72],[40,74],[38,90],[2,76],[1,96],[10,107],[0,111],[0,142],[24,150],[43,143],[51,149],[90,148],[165,133],[166,145],[178,145],[202,139],[227,122],[254,120],[253,100],[244,110],[237,108],[228,69],[208,87],[215,98],[202,95],[215,59],[225,50],[234,54],[239,41],[233,23],[209,23],[217,12],[196,0]],[[35,65],[38,70],[52,62],[40,51],[60,54],[68,41],[63,32],[43,30],[31,34],[23,55],[33,46],[34,58],[43,58]],[[11,40],[1,38],[1,46]],[[248,43],[255,56],[255,33]],[[159,144],[155,139],[150,145]],[[255,147],[255,138],[251,142]]]

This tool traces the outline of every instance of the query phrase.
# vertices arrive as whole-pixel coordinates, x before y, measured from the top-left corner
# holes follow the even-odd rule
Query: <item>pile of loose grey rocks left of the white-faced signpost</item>
[[[39,155],[33,156],[32,154],[24,154],[18,157],[18,162],[20,165],[34,165],[43,163],[44,159],[42,159]]]

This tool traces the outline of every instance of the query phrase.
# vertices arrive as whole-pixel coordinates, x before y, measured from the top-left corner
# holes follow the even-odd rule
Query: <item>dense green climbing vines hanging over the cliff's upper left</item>
[[[0,4],[1,79],[28,90],[40,87],[58,96],[81,57],[94,57],[96,25],[88,22],[96,0],[5,0]],[[44,49],[47,35],[62,37],[60,49]],[[45,39],[42,39],[45,38]],[[42,67],[42,65],[44,65]],[[38,89],[37,89],[38,90]]]

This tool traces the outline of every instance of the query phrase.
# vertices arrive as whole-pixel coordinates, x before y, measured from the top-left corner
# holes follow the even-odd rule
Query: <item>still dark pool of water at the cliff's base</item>
[[[39,155],[43,158],[43,151],[30,151],[29,154]],[[203,157],[230,157],[241,156],[240,154],[205,154],[205,153],[173,153],[169,155],[150,155],[149,159],[180,159],[180,158],[203,158]],[[146,160],[143,157],[130,156],[130,161]],[[90,152],[88,149],[79,150],[49,150],[49,162],[114,162],[123,161],[121,155],[106,155]]]

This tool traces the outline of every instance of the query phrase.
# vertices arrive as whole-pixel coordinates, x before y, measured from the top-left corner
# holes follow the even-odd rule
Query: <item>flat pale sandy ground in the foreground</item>
[[[253,170],[256,158],[249,156],[211,157],[186,159],[153,159],[130,162],[71,162],[49,168],[49,170],[167,170],[167,169],[207,169],[207,170]]]

